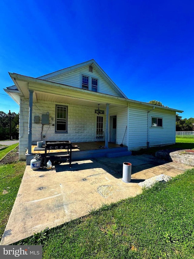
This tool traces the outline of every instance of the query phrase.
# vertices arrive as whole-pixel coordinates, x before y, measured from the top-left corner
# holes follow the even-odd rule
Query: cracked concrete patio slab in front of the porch
[[[122,163],[132,163],[132,180],[122,182]],[[26,170],[1,245],[87,215],[103,203],[141,193],[139,182],[159,174],[176,176],[191,166],[166,163],[153,156],[86,159],[55,165],[52,170]]]

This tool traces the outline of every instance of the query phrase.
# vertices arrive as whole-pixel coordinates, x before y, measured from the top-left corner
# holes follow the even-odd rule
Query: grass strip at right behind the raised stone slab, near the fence
[[[180,150],[180,149],[194,149],[194,135],[191,136],[176,136],[176,144],[174,145],[166,145],[166,146],[160,146],[160,147],[152,147],[152,148],[145,148],[140,149],[138,151],[132,151],[133,155],[142,155],[142,154],[149,154],[149,155],[155,155],[155,153],[162,149],[174,149],[174,150]]]

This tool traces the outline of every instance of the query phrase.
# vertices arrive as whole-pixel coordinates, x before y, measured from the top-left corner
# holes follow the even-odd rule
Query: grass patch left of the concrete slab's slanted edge
[[[18,162],[0,165],[0,237],[2,237],[9,215],[12,211],[25,171],[25,164],[25,162]]]

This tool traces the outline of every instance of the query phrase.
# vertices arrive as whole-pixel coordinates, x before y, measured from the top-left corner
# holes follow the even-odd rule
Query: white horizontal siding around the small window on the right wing
[[[149,146],[168,145],[175,143],[176,116],[174,111],[155,108],[150,111],[145,105],[130,104],[129,106],[129,149],[147,148],[148,115],[149,115]],[[151,127],[151,117],[163,118],[163,127]]]

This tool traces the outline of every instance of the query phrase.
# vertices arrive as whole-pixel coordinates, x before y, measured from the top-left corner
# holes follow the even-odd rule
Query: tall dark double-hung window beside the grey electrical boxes
[[[67,133],[68,106],[56,104],[55,133]]]

